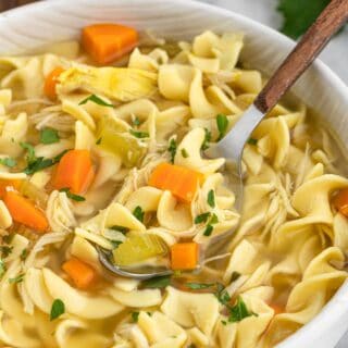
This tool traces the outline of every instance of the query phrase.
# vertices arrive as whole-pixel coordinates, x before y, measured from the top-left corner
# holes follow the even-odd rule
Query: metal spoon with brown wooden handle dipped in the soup
[[[304,34],[299,44],[277,69],[269,83],[259,94],[253,104],[244,113],[233,129],[214,147],[206,151],[208,157],[223,157],[226,159],[228,178],[232,181],[236,195],[236,209],[241,210],[243,150],[250,138],[252,130],[262,121],[265,114],[279,101],[282,96],[294,85],[299,76],[311,65],[316,55],[326,46],[328,40],[348,20],[348,0],[332,0],[321,13],[315,23]],[[313,86],[315,88],[315,86]],[[234,229],[235,231],[235,229]],[[234,231],[219,236],[219,245],[226,245],[226,239]],[[214,250],[216,250],[216,245]],[[212,248],[211,248],[212,249]],[[111,272],[137,279],[147,279],[171,274],[167,269],[138,268],[125,269],[112,263],[111,254],[98,249],[100,262]]]

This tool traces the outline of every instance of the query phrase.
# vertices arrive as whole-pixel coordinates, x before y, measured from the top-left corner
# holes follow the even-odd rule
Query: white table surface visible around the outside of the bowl
[[[276,11],[277,0],[200,0],[244,14],[275,29],[281,27],[282,16]],[[310,0],[304,0],[310,1]],[[320,58],[348,85],[348,27],[337,35]],[[333,347],[327,347],[333,348]],[[348,333],[335,348],[348,348]]]

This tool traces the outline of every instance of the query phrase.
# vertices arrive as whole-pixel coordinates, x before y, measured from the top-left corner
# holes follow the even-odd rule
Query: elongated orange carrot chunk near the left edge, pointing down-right
[[[39,233],[45,233],[49,229],[49,224],[45,213],[36,208],[30,200],[24,198],[17,192],[7,191],[3,197],[3,201],[15,222],[28,226]]]

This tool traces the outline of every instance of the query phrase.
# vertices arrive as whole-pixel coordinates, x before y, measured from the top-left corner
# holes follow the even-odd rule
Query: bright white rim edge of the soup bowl
[[[114,0],[116,2],[122,2],[122,0]],[[133,0],[133,2],[140,3],[141,0]],[[283,46],[284,49],[290,51],[295,46],[296,41],[286,37],[284,34],[277,32],[276,29],[266,26],[256,20],[252,20],[244,14],[234,12],[233,10],[227,10],[217,5],[213,5],[210,3],[200,2],[198,0],[161,0],[162,3],[171,3],[175,2],[176,7],[186,7],[192,8],[194,10],[206,10],[212,11],[217,15],[222,16],[229,16],[234,18],[238,18],[240,22],[245,23],[246,26],[251,28],[260,28],[263,33],[270,36],[272,40],[278,41],[279,46]],[[8,11],[0,13],[0,23],[5,24],[7,20],[15,18],[18,15],[25,14],[27,11],[32,10],[45,10],[46,8],[50,8],[52,4],[70,4],[71,0],[46,0],[46,1],[38,1],[34,3],[28,3],[25,5],[21,5],[18,8],[14,8]],[[74,0],[74,3],[95,3],[101,4],[102,0]],[[312,67],[316,71],[316,73],[321,76],[322,79],[328,79],[335,88],[335,92],[339,95],[341,99],[347,100],[348,104],[348,86],[343,82],[343,79],[332,71],[332,69],[323,63],[320,58],[316,58],[315,61],[312,63]],[[347,310],[345,310],[347,308]],[[332,322],[336,322],[337,324],[343,325],[343,322],[339,322],[337,318],[344,318],[348,315],[348,281],[340,286],[340,288],[335,293],[335,295],[330,299],[328,302],[321,309],[321,311],[307,324],[301,326],[297,332],[293,335],[287,337],[285,340],[281,341],[276,347],[278,348],[295,348],[295,347],[303,347],[303,341],[307,344],[311,343],[316,338],[316,336],[323,337],[325,334],[325,325],[330,326]],[[334,315],[333,315],[334,314]],[[337,315],[338,314],[338,315]],[[336,318],[336,320],[333,320]],[[345,330],[348,328],[348,323],[345,325]],[[319,327],[322,331],[319,333]],[[345,331],[344,330],[344,331]],[[341,334],[344,333],[343,330],[336,333],[336,341],[340,338]],[[330,332],[326,332],[330,334]],[[316,340],[316,343],[320,340]],[[328,348],[327,346],[321,346],[323,348]]]

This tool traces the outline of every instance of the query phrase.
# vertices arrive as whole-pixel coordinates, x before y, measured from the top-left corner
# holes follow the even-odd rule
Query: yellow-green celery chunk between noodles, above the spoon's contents
[[[129,167],[136,165],[146,152],[145,144],[110,117],[100,122],[98,139],[102,149],[121,156],[123,163]]]

